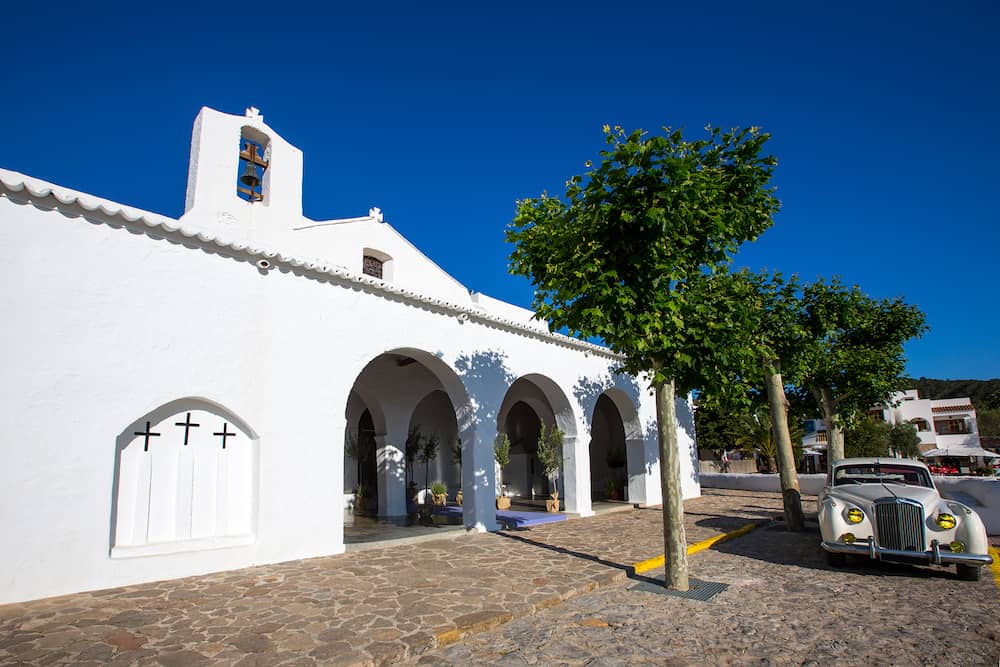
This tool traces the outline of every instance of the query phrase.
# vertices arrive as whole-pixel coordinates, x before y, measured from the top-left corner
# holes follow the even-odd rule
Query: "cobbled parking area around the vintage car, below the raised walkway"
[[[761,527],[692,555],[692,575],[728,588],[710,602],[612,584],[403,664],[996,665],[993,578],[852,560],[826,565],[819,532]],[[662,572],[662,570],[661,570]]]

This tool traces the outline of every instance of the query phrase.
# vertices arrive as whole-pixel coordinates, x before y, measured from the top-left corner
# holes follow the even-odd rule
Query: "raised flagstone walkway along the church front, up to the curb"
[[[688,541],[780,507],[706,489],[685,503]],[[0,663],[393,664],[624,581],[662,553],[661,521],[637,509],[6,605]]]

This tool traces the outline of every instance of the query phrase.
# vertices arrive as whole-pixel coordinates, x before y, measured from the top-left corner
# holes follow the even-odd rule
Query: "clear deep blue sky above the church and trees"
[[[995,0],[140,4],[5,7],[0,167],[179,216],[198,109],[254,105],[305,154],[307,216],[379,206],[527,306],[514,200],[562,192],[602,124],[761,125],[783,208],[738,263],[902,296],[931,326],[911,374],[1000,376]]]

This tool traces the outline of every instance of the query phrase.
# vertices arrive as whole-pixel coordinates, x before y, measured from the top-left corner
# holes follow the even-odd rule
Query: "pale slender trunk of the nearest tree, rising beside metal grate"
[[[663,554],[666,558],[663,585],[686,591],[689,588],[687,540],[684,537],[684,497],[673,380],[656,384],[656,423],[660,441],[660,490],[663,493]]]

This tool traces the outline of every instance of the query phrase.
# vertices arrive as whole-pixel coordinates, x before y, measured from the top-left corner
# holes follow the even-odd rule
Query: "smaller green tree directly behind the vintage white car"
[[[829,461],[844,458],[844,427],[902,384],[903,345],[926,331],[924,314],[902,299],[873,299],[838,279],[803,289],[807,339],[797,376],[826,421]]]

